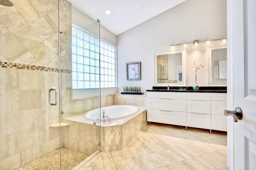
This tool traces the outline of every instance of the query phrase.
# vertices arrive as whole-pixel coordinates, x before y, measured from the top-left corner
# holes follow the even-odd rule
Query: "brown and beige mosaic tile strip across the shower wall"
[[[37,65],[27,65],[27,64],[18,64],[18,63],[8,63],[0,61],[0,67],[2,68],[16,68],[16,69],[26,69],[26,70],[36,70],[36,71],[46,71],[46,72],[59,72],[58,68],[53,67],[44,67],[44,66],[37,66]],[[72,71],[68,69],[60,69],[61,73],[69,73],[71,74]]]

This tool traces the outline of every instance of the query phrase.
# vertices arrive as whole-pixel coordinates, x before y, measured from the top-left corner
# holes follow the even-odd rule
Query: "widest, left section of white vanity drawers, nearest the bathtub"
[[[148,92],[147,121],[186,126],[186,93]]]

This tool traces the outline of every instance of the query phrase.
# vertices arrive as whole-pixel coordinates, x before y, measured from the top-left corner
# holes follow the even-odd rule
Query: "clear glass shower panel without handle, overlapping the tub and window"
[[[65,10],[60,8],[62,167],[67,161],[77,166],[100,151],[100,121],[85,118],[86,112],[100,108],[100,22],[85,17],[69,2]]]

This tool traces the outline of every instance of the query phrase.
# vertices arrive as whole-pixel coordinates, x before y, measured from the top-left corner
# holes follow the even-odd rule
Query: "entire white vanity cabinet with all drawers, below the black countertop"
[[[227,131],[226,93],[147,92],[147,121]]]

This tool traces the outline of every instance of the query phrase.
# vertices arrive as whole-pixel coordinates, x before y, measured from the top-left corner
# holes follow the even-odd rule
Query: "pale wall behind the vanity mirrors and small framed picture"
[[[154,86],[154,53],[173,51],[170,45],[227,36],[226,0],[186,0],[182,4],[117,36],[118,92],[123,86],[140,86],[142,92]],[[221,41],[186,47],[186,86],[195,85],[194,61],[205,67],[197,74],[198,85],[207,86],[207,47]],[[175,49],[183,49],[181,45]],[[126,80],[126,63],[141,61],[141,80]]]

